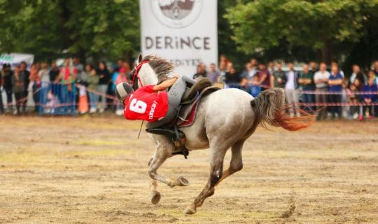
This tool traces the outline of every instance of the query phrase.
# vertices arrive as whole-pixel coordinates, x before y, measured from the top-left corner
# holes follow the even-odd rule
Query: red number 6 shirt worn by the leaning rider
[[[124,115],[127,120],[153,122],[164,118],[168,111],[167,92],[156,92],[155,85],[147,85],[125,99]]]

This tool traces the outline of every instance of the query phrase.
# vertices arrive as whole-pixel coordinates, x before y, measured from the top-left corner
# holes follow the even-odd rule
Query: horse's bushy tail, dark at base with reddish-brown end
[[[286,109],[290,106],[285,104],[285,92],[283,89],[274,88],[261,92],[258,97],[251,101],[252,109],[255,111],[255,122],[253,126],[259,124],[266,127],[267,124],[283,127],[289,131],[302,130],[314,123],[315,115],[297,109],[301,113],[300,117],[289,117]]]

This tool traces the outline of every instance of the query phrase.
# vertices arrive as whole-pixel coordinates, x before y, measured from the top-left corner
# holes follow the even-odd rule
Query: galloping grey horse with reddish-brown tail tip
[[[138,61],[138,64],[143,64],[137,72],[134,69],[131,75],[134,74],[133,82],[138,82],[139,87],[160,83],[174,69],[172,64],[154,55],[144,58],[139,55]],[[210,175],[206,186],[185,209],[184,214],[195,214],[204,200],[214,195],[218,183],[243,168],[241,149],[258,125],[272,125],[295,131],[309,127],[314,120],[309,114],[289,118],[285,109],[285,94],[279,88],[265,90],[255,99],[242,90],[223,89],[200,100],[195,122],[180,130],[186,135],[186,148],[189,150],[210,148]],[[172,157],[175,146],[165,136],[148,134],[148,137],[157,145],[155,154],[148,162],[148,174],[152,179],[151,202],[157,204],[161,198],[157,190],[158,181],[170,187],[188,186],[189,182],[183,177],[169,179],[158,174],[159,167]],[[223,170],[223,160],[229,148],[232,153],[230,166]]]

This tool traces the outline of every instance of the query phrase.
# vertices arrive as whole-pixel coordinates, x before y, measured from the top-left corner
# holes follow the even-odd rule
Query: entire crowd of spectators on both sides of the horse
[[[109,68],[108,68],[109,67]],[[312,113],[317,119],[373,118],[378,111],[378,61],[372,70],[361,71],[357,64],[345,76],[335,61],[327,64],[309,62],[295,66],[293,62],[269,62],[251,59],[244,71],[237,71],[230,60],[221,55],[219,66],[199,64],[193,78],[207,77],[214,85],[235,87],[257,97],[261,91],[281,87],[286,92],[290,116],[300,116],[300,109]],[[123,114],[123,105],[113,97],[118,83],[129,82],[130,64],[118,59],[115,65],[106,62],[81,64],[78,57],[64,59],[61,66],[56,62],[31,64],[25,62],[13,69],[3,64],[0,73],[0,96],[6,94],[6,102],[0,97],[0,113],[25,113],[28,92],[34,101],[34,111],[53,110],[60,105],[64,112],[103,113],[105,110]],[[48,85],[47,102],[41,107],[41,87]],[[30,93],[29,93],[30,94]],[[15,103],[13,103],[13,96]],[[71,106],[69,106],[71,105]],[[4,107],[6,110],[4,110]],[[375,115],[378,115],[376,113]]]

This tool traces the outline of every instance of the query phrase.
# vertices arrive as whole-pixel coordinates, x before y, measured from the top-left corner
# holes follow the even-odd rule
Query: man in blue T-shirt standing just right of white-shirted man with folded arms
[[[331,73],[328,78],[328,88],[330,91],[330,103],[340,104],[342,102],[342,84],[344,76],[339,71],[339,66],[333,64],[331,67]],[[339,105],[330,106],[330,113],[332,114],[332,119],[335,118],[335,113],[337,113],[337,118],[342,118],[342,107]]]

